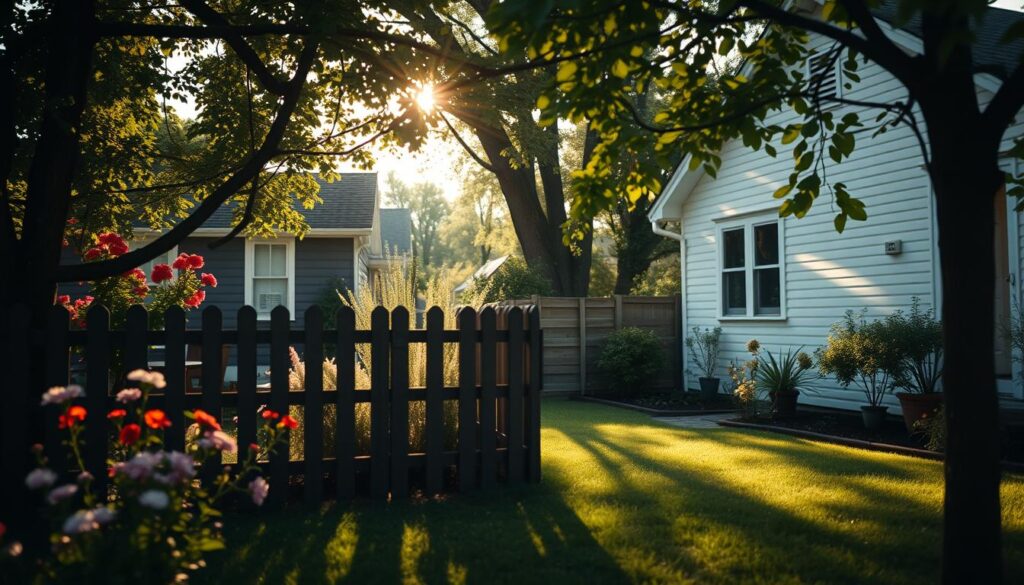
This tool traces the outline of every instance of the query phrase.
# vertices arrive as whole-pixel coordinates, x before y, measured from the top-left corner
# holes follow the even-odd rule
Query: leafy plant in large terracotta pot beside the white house
[[[938,389],[942,378],[942,323],[936,321],[931,308],[921,309],[916,297],[910,311],[897,310],[886,318],[885,326],[896,342],[902,367],[896,375],[897,392],[903,410],[903,423],[914,432],[918,421],[934,415],[942,405]]]

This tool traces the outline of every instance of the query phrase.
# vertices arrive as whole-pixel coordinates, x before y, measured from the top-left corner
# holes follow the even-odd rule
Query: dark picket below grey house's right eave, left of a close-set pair
[[[370,316],[370,496],[386,499],[388,492],[388,311],[378,306]]]

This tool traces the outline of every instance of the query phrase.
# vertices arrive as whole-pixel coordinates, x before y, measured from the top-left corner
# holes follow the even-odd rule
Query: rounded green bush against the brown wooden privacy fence
[[[613,391],[643,393],[665,366],[665,349],[653,331],[624,327],[608,335],[601,346],[597,369]]]

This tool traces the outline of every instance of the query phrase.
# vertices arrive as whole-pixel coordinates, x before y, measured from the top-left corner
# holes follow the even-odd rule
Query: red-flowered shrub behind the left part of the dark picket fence
[[[100,234],[94,240],[95,245],[83,254],[86,261],[116,258],[128,252],[124,238],[113,232]],[[203,256],[181,253],[170,265],[155,265],[150,275],[141,268],[132,268],[123,275],[96,281],[92,285],[92,295],[75,300],[69,295],[60,295],[57,304],[68,309],[76,327],[82,328],[86,311],[98,302],[111,310],[111,325],[118,328],[124,327],[132,305],[144,303],[150,309],[150,324],[161,328],[167,308],[174,305],[185,310],[197,308],[206,300],[204,288],[216,288],[216,277],[197,273],[205,263]],[[177,278],[174,278],[175,270]]]

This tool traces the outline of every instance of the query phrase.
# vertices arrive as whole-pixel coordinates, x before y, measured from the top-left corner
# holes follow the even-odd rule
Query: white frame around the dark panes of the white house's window
[[[723,217],[715,220],[715,289],[718,292],[718,320],[719,321],[785,321],[785,218],[779,217],[776,210],[771,212],[757,212],[745,214],[741,217]],[[778,281],[779,281],[779,310],[778,315],[756,315],[754,312],[754,227],[776,223],[778,225]],[[746,312],[744,315],[727,315],[725,312],[725,287],[722,276],[726,273],[725,266],[725,239],[724,233],[732,229],[743,229],[743,267],[745,273],[744,284],[746,287]],[[772,267],[772,265],[761,266],[762,268]],[[736,268],[729,268],[734,271]]]

